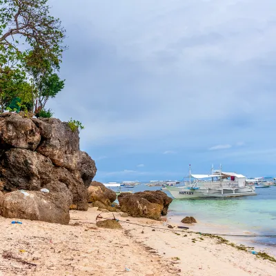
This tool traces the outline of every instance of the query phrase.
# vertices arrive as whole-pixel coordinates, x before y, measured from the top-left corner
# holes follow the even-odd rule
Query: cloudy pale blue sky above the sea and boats
[[[275,0],[50,0],[67,30],[55,116],[99,181],[276,175]]]

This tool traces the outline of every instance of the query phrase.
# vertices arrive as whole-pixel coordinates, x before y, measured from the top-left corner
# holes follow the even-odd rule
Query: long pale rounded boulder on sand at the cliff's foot
[[[72,199],[63,193],[15,191],[0,197],[2,217],[68,224]]]

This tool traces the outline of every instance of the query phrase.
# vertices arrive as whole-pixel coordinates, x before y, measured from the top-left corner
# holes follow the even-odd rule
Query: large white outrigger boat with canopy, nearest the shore
[[[175,199],[197,197],[241,197],[257,195],[255,186],[246,185],[246,177],[235,172],[215,171],[211,175],[191,175],[185,186],[166,186]],[[192,181],[193,179],[193,181]]]

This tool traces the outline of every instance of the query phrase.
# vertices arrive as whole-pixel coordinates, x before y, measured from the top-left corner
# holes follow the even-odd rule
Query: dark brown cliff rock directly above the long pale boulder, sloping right
[[[0,166],[3,189],[41,190],[71,193],[77,210],[87,210],[87,190],[80,172],[55,167],[49,158],[30,150],[12,148],[6,151]]]

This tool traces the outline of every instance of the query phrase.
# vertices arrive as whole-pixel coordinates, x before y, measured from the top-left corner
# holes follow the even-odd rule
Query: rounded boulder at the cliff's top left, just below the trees
[[[0,148],[26,148],[35,150],[39,146],[41,135],[32,120],[17,114],[0,118]]]

